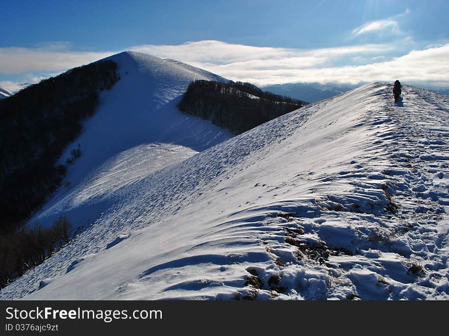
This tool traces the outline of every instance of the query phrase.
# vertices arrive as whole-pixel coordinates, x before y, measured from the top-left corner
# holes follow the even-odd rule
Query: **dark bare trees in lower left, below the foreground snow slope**
[[[61,217],[51,227],[36,225],[0,236],[0,288],[68,243],[70,228],[67,218]]]

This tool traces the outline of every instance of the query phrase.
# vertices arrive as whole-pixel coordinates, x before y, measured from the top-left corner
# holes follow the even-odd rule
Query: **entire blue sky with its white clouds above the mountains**
[[[258,85],[365,75],[449,86],[446,0],[41,0],[0,8],[4,87],[128,49]]]

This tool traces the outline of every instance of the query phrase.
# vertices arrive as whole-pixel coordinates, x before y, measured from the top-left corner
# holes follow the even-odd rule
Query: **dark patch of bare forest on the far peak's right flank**
[[[194,81],[178,108],[240,134],[303,107],[302,100],[264,92],[251,83]]]

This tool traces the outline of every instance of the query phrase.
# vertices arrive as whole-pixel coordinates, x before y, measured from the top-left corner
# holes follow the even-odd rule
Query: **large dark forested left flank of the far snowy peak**
[[[21,227],[60,186],[66,167],[55,164],[116,70],[111,60],[91,63],[0,100],[0,232]]]

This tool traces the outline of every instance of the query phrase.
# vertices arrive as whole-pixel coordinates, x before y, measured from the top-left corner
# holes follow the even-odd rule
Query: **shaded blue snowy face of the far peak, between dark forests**
[[[94,116],[60,163],[80,144],[62,187],[30,224],[67,216],[88,226],[119,201],[117,191],[233,136],[211,122],[179,112],[176,104],[195,79],[225,81],[190,65],[131,51],[110,57],[121,79],[101,94]],[[64,185],[69,182],[70,187]]]

